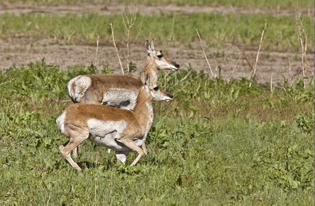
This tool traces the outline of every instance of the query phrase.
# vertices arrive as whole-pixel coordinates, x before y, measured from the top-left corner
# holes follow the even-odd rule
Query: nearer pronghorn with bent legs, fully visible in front
[[[141,146],[152,126],[152,100],[171,101],[173,96],[150,83],[150,74],[139,89],[133,111],[104,105],[72,104],[56,120],[60,133],[69,137],[61,145],[60,151],[67,161],[81,170],[70,156],[71,151],[89,139],[97,144],[116,151],[117,158],[123,163],[131,150],[139,153],[131,163],[135,165],[147,153]]]

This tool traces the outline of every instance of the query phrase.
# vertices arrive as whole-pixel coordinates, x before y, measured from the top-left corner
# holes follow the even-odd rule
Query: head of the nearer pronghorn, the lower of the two
[[[145,76],[145,90],[150,92],[153,100],[170,102],[173,100],[173,95],[159,88],[158,85],[150,82],[150,73]]]

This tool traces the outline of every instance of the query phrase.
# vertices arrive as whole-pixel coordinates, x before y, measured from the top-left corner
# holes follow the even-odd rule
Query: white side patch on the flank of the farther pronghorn
[[[106,106],[133,110],[135,108],[138,94],[128,89],[110,89],[104,93],[102,102]]]

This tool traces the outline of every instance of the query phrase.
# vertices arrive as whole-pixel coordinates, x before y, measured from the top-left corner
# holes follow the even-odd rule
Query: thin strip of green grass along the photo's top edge
[[[23,2],[23,3],[82,3],[89,2],[84,0],[5,0],[7,2]],[[97,1],[101,3],[108,3],[109,0]],[[313,1],[300,0],[296,2],[294,0],[121,0],[120,2],[126,3],[145,3],[148,5],[164,5],[164,4],[176,4],[176,5],[211,5],[211,6],[237,6],[242,8],[314,8]]]

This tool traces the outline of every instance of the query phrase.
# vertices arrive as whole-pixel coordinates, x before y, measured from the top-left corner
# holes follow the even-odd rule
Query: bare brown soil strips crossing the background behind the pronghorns
[[[95,3],[96,2],[96,3]],[[98,12],[100,14],[113,14],[113,12],[121,13],[126,5],[123,3],[108,3],[106,5],[97,4],[95,1],[92,4],[80,4],[80,5],[34,5],[25,3],[0,3],[0,14],[4,12],[12,12],[14,14],[21,14],[27,12],[39,12],[47,13],[51,15],[62,15],[66,12],[75,12],[82,14],[84,12]],[[200,7],[200,6],[152,6],[152,5],[137,5],[137,10],[141,14],[159,14],[161,10],[164,13],[178,12],[183,14],[189,14],[193,12],[219,12],[228,13],[234,12],[239,14],[260,13],[266,12],[261,10],[242,10],[240,8],[223,8],[223,7]],[[290,10],[268,10],[273,14],[290,15],[294,12]],[[307,11],[305,11],[307,12]],[[139,40],[138,40],[139,41]],[[130,60],[137,65],[138,71],[144,66],[146,52],[144,49],[144,41],[141,45],[133,45],[131,48]],[[45,62],[49,65],[58,65],[60,69],[67,69],[74,65],[91,65],[91,62],[95,60],[96,47],[92,45],[66,45],[60,43],[54,39],[40,39],[34,40],[29,38],[12,37],[9,39],[0,39],[0,69],[5,69],[13,64],[17,67],[26,65],[29,62],[40,61],[45,58]],[[193,69],[204,70],[210,73],[209,66],[205,60],[205,56],[200,48],[199,43],[190,43],[189,45],[172,45],[170,48],[165,47],[165,43],[156,42],[157,49],[163,49],[171,59],[178,62],[181,69],[187,69],[189,64]],[[258,49],[258,45],[257,45]],[[213,72],[217,66],[220,67],[220,74],[224,78],[230,78],[233,72],[233,78],[250,76],[250,66],[248,62],[244,60],[242,56],[240,58],[240,50],[233,45],[224,45],[220,51],[217,49],[209,48],[206,50],[207,58]],[[126,67],[126,48],[119,48],[119,55]],[[257,50],[245,51],[246,58],[250,61],[251,65],[254,65],[257,56]],[[240,58],[237,65],[236,62]],[[290,63],[289,63],[290,60]],[[306,75],[308,77],[314,76],[314,56],[313,54],[307,55],[307,60],[310,63],[310,67],[307,68]],[[97,65],[99,68],[102,65],[109,65],[109,68],[114,70],[115,73],[121,73],[119,62],[117,60],[115,48],[111,46],[111,43],[102,44],[98,49]],[[290,68],[290,69],[289,69]],[[290,71],[290,72],[289,72]],[[219,75],[219,69],[218,69]],[[299,74],[299,75],[298,75]],[[268,52],[263,51],[259,56],[257,63],[257,78],[259,82],[277,83],[283,82],[283,77],[292,77],[292,80],[301,78],[301,54],[289,53],[289,52]]]

